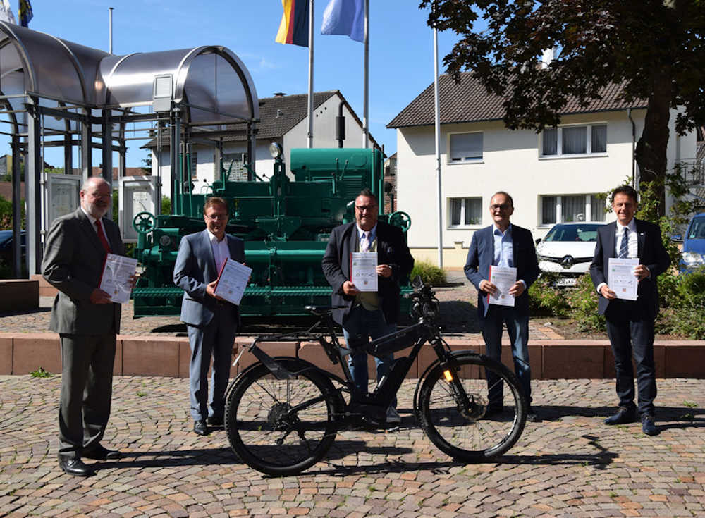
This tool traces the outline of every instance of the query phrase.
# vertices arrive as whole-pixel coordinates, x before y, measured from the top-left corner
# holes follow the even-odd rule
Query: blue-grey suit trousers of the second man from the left
[[[233,363],[233,343],[238,332],[238,322],[233,319],[230,304],[217,307],[207,326],[187,326],[191,346],[188,376],[190,385],[191,417],[204,421],[210,415],[221,417],[225,412],[225,391],[228,388],[230,367]],[[208,393],[208,368],[213,357],[213,374],[210,397]]]

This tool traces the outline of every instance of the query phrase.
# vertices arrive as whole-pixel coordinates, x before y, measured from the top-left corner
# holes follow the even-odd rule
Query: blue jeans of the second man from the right
[[[531,366],[529,366],[529,315],[521,314],[513,307],[492,304],[486,316],[480,319],[482,338],[487,356],[501,361],[502,325],[507,324],[509,340],[512,343],[514,371],[519,385],[524,390],[527,403],[531,405]],[[488,400],[490,406],[502,405],[504,383],[498,376],[487,373]]]

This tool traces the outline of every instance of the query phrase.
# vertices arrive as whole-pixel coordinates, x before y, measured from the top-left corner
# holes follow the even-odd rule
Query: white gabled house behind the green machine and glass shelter
[[[314,147],[338,147],[336,116],[341,104],[345,116],[343,147],[362,147],[362,121],[338,90],[314,93]],[[291,149],[307,147],[307,109],[307,94],[275,94],[274,97],[259,99],[255,172],[260,178],[269,178],[274,171],[274,159],[269,154],[269,144],[272,142],[281,145],[285,164],[289,163]],[[369,141],[372,147],[379,147],[372,135]],[[156,140],[145,147],[152,149],[152,174],[157,174],[161,164],[162,194],[171,196],[173,184],[168,139],[161,152],[157,152]],[[195,192],[207,191],[210,183],[221,178],[220,163],[226,171],[230,171],[232,180],[247,179],[247,171],[243,167],[247,163],[246,135],[233,132],[233,135],[219,137],[217,141],[207,142],[201,138],[192,143],[191,179]]]

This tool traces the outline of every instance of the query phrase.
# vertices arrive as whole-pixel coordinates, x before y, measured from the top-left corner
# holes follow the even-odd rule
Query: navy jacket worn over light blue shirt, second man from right
[[[472,235],[465,261],[465,276],[477,288],[477,312],[480,318],[484,318],[489,309],[487,293],[480,290],[480,282],[483,279],[489,280],[489,267],[494,262],[494,229],[495,226],[490,225]],[[531,232],[514,224],[511,232],[517,280],[523,280],[527,285],[527,289],[515,300],[514,307],[520,314],[529,314],[529,288],[541,273],[539,260]]]

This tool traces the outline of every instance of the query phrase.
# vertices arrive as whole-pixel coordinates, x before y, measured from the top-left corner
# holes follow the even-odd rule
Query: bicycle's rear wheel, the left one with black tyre
[[[306,364],[279,360],[290,372]],[[321,460],[336,438],[343,398],[317,371],[278,380],[264,365],[240,379],[226,403],[225,426],[240,460],[270,475],[298,474]]]

